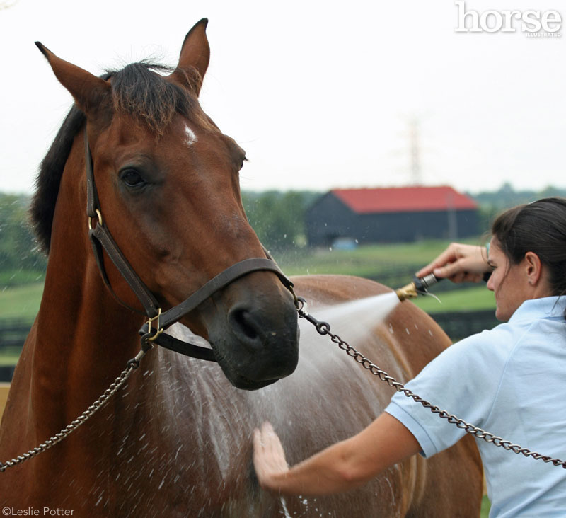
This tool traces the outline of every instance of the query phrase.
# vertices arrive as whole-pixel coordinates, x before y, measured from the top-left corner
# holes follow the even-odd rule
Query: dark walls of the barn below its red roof
[[[456,229],[451,229],[454,221]],[[423,238],[456,239],[478,235],[475,209],[452,214],[448,211],[356,214],[331,192],[308,209],[305,222],[311,246],[329,246],[337,237],[354,238],[359,243],[403,243]]]

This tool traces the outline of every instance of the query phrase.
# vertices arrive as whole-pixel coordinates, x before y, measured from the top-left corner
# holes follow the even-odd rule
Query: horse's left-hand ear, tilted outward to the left
[[[111,96],[110,83],[57,57],[40,42],[35,42],[35,45],[47,58],[59,82],[67,88],[86,115],[96,115],[107,108]]]

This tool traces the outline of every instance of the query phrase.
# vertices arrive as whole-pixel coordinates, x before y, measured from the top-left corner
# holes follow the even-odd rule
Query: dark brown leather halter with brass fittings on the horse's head
[[[171,326],[171,324],[178,322],[180,318],[183,318],[187,313],[190,313],[203,301],[211,297],[214,293],[223,289],[228,284],[243,277],[251,272],[258,271],[270,271],[274,272],[279,280],[281,280],[284,287],[289,289],[293,298],[295,300],[295,305],[299,305],[299,301],[293,291],[293,283],[285,277],[284,273],[279,270],[277,263],[272,260],[270,254],[265,250],[267,258],[251,258],[240,261],[239,263],[233,264],[226,268],[223,272],[213,277],[202,287],[197,289],[195,293],[190,295],[185,301],[181,302],[177,306],[174,306],[168,311],[161,311],[158,301],[151,293],[149,288],[144,284],[144,282],[139,278],[139,275],[134,271],[132,266],[128,263],[125,255],[120,251],[114,238],[110,235],[108,227],[102,217],[102,211],[100,209],[100,202],[98,200],[98,192],[96,191],[96,183],[94,182],[94,172],[93,172],[93,159],[91,155],[90,146],[88,146],[88,137],[86,134],[86,128],[84,133],[85,142],[85,161],[86,161],[86,214],[88,216],[88,238],[90,238],[94,256],[96,258],[96,263],[98,265],[98,270],[100,270],[100,275],[103,281],[110,290],[112,296],[120,303],[122,306],[128,309],[141,313],[141,311],[132,308],[124,301],[122,301],[114,290],[110,286],[110,280],[108,279],[108,274],[104,266],[103,253],[106,252],[112,263],[117,267],[120,275],[129,284],[129,287],[134,292],[137,299],[144,306],[144,314],[149,318],[149,320],[141,327],[139,334],[141,335],[141,347],[144,350],[151,348],[151,346],[156,343],[167,349],[171,349],[175,352],[180,352],[183,355],[190,356],[193,358],[207,359],[209,361],[215,362],[214,351],[207,349],[205,347],[200,347],[192,343],[184,342],[183,340],[178,340],[173,338],[171,335],[163,333],[163,330]],[[96,224],[93,225],[93,219],[96,219]],[[156,321],[156,328],[152,326],[152,323]]]

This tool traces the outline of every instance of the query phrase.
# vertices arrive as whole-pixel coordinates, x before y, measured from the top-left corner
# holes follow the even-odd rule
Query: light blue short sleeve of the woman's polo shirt
[[[405,387],[441,410],[483,427],[507,359],[506,347],[498,347],[505,343],[502,327],[451,345]],[[427,457],[451,447],[466,433],[404,393],[396,393],[385,411],[408,428]]]

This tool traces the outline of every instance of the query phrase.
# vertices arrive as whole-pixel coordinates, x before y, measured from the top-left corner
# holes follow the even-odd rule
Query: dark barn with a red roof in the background
[[[399,243],[478,234],[478,205],[447,185],[334,189],[306,211],[310,246]]]

